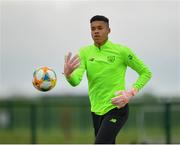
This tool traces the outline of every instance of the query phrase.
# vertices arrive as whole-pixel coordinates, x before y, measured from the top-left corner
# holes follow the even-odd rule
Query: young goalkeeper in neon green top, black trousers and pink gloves
[[[109,19],[96,15],[90,19],[94,44],[82,47],[79,54],[65,57],[64,75],[78,85],[86,71],[95,144],[115,144],[116,136],[128,118],[128,103],[151,78],[151,71],[133,51],[108,39]],[[125,88],[127,67],[139,77],[130,90]]]

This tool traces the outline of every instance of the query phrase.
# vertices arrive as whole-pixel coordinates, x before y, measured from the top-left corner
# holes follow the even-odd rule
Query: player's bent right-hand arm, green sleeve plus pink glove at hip
[[[135,70],[139,77],[130,90],[120,90],[115,93],[116,97],[112,99],[112,103],[119,108],[124,107],[152,77],[149,68],[132,52],[131,49],[125,47],[124,50],[124,60],[126,65]]]

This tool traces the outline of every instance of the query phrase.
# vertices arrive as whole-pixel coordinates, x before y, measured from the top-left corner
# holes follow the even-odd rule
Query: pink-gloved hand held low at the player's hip
[[[130,91],[117,91],[115,93],[116,97],[112,98],[112,104],[116,105],[118,108],[124,107],[131,98],[136,95],[138,90],[131,89]]]

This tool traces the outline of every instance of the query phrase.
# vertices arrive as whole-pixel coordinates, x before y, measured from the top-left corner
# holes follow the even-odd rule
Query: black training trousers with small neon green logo
[[[114,108],[104,115],[92,112],[95,131],[95,144],[115,144],[116,136],[128,118],[128,104],[121,108]]]

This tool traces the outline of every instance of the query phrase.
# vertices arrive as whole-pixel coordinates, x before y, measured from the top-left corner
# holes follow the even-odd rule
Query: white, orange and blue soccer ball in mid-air
[[[32,83],[39,91],[49,91],[56,85],[57,77],[53,69],[41,67],[34,71]]]

